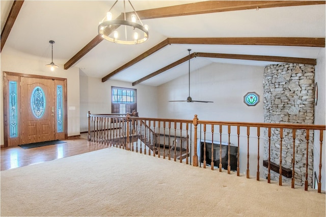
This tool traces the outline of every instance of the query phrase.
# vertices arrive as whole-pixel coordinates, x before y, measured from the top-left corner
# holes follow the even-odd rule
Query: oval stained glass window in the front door
[[[45,95],[41,87],[34,88],[31,96],[31,109],[36,118],[41,118],[45,112]]]

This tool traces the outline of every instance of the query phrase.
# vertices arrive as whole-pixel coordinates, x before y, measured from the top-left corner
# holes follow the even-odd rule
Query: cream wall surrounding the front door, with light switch
[[[67,78],[68,136],[79,135],[79,70],[78,68],[60,68],[51,72],[45,65],[47,62],[31,56],[1,54],[1,105],[3,105],[3,71],[31,75]],[[1,107],[1,144],[4,144],[3,106]],[[69,109],[74,108],[74,110]]]

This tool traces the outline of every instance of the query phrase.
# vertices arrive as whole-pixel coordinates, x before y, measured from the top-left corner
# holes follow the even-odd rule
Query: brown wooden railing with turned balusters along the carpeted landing
[[[102,119],[101,119],[102,118]],[[105,120],[106,119],[106,120]],[[108,126],[110,122],[110,126]],[[112,122],[116,126],[112,126]],[[113,130],[108,130],[108,127],[117,127]],[[145,130],[146,129],[146,130]],[[279,134],[273,134],[271,129],[278,129]],[[265,134],[264,134],[265,131]],[[297,132],[304,132],[304,141],[298,140],[302,138],[296,138]],[[227,166],[225,170],[228,174],[231,174],[231,162],[230,162],[230,147],[231,144],[237,147],[236,153],[236,171],[237,176],[240,175],[240,170],[245,169],[247,178],[250,178],[250,170],[253,170],[253,166],[257,166],[255,176],[257,180],[262,177],[261,166],[263,166],[263,160],[266,162],[266,173],[267,182],[271,183],[271,170],[276,170],[279,174],[284,174],[285,168],[283,161],[285,158],[291,159],[291,168],[286,168],[287,170],[292,170],[292,175],[290,179],[291,188],[296,185],[295,179],[297,178],[297,168],[300,165],[301,171],[304,172],[304,188],[307,191],[308,186],[312,187],[312,181],[308,181],[313,176],[311,171],[312,161],[308,159],[308,152],[312,151],[311,144],[313,139],[318,139],[320,159],[318,165],[318,180],[317,189],[321,192],[321,169],[325,167],[322,165],[322,145],[323,135],[325,131],[325,125],[298,125],[290,123],[252,123],[252,122],[227,122],[227,121],[208,121],[199,120],[197,115],[195,115],[193,120],[182,120],[182,119],[164,119],[164,118],[144,118],[135,117],[131,114],[126,116],[116,116],[116,115],[92,115],[89,113],[89,141],[101,142],[108,144],[110,146],[119,146],[125,149],[136,151],[144,154],[146,153],[146,148],[142,147],[142,143],[139,139],[145,138],[145,141],[150,141],[147,146],[152,145],[152,149],[148,149],[151,155],[151,150],[153,156],[160,158],[166,158],[166,156],[171,160],[171,158],[176,161],[179,159],[180,162],[189,163],[193,166],[199,165],[198,158],[198,145],[203,142],[204,150],[206,151],[206,143],[211,143],[211,161],[207,162],[204,154],[203,167],[206,168],[206,164],[210,163],[212,170],[218,168],[220,172],[223,172],[222,166],[222,141],[227,144]],[[290,136],[291,139],[285,139],[286,136]],[[314,138],[311,136],[314,134]],[[175,140],[172,145],[166,144],[166,139],[164,139],[163,144],[159,141],[160,137],[158,135],[166,135],[171,141],[171,138]],[[302,137],[302,136],[300,136]],[[178,148],[177,138],[182,138],[180,146]],[[180,141],[181,141],[180,140]],[[276,141],[277,140],[277,141]],[[118,142],[117,142],[118,141]],[[219,146],[219,159],[214,159],[214,145]],[[271,142],[273,141],[273,142]],[[263,142],[263,144],[262,144]],[[271,161],[271,149],[275,148],[274,143],[277,142],[279,149],[273,150],[273,152],[278,152],[279,162]],[[298,162],[295,158],[295,154],[292,156],[282,156],[283,148],[285,146],[290,147],[292,153],[296,153],[298,148],[298,143],[305,143],[304,156],[305,160]],[[162,147],[160,147],[160,144]],[[261,156],[262,145],[265,146],[264,156]],[[192,153],[192,150],[194,153]],[[252,157],[254,156],[254,158]],[[242,164],[240,164],[240,159]],[[214,165],[214,160],[218,160],[219,164]],[[246,163],[244,163],[244,160]],[[275,166],[276,165],[276,166]],[[282,175],[278,177],[279,185],[282,185],[284,180]],[[285,178],[284,178],[285,179]],[[300,183],[299,183],[300,185]]]

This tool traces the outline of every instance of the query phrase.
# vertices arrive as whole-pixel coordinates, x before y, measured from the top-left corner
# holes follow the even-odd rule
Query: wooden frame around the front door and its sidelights
[[[63,110],[64,110],[64,115],[63,115],[63,118],[64,118],[64,134],[65,134],[65,139],[67,139],[68,137],[68,132],[67,132],[67,127],[68,127],[68,124],[67,124],[67,119],[68,119],[68,116],[67,116],[67,78],[59,78],[59,77],[50,77],[50,76],[42,76],[42,75],[32,75],[32,74],[22,74],[22,73],[16,73],[16,72],[3,72],[3,111],[4,111],[4,120],[3,120],[3,124],[4,124],[4,147],[8,147],[8,144],[9,144],[9,96],[8,96],[8,78],[7,76],[17,76],[18,77],[18,80],[17,80],[17,94],[19,95],[19,97],[17,98],[17,100],[19,102],[17,102],[18,104],[18,121],[19,123],[21,122],[21,117],[20,117],[20,108],[21,108],[21,105],[20,105],[20,80],[21,80],[21,77],[29,77],[29,78],[40,78],[40,79],[50,79],[50,80],[60,80],[60,81],[63,81],[64,82],[64,86],[63,86]],[[18,124],[19,124],[18,123]],[[56,128],[55,128],[56,129]],[[18,139],[16,138],[15,142],[14,143],[20,143],[19,141],[19,135],[20,135],[20,126],[18,127]],[[18,145],[18,144],[16,144]],[[14,146],[13,145],[10,145],[10,146]]]

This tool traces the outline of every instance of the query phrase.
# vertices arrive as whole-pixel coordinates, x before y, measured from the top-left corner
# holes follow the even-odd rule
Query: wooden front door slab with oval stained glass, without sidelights
[[[55,84],[50,79],[21,78],[21,143],[55,139]]]

